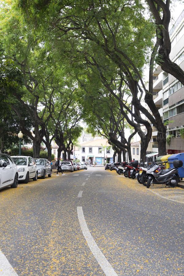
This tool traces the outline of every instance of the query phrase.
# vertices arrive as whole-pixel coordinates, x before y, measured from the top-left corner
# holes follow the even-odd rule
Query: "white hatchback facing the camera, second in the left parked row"
[[[31,156],[12,156],[18,169],[18,180],[28,183],[29,179],[38,179],[36,163]]]

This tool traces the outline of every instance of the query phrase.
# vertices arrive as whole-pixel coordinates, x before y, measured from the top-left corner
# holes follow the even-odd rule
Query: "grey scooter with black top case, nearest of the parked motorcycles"
[[[167,163],[164,162],[164,163]],[[148,181],[146,187],[149,188],[151,184],[165,184],[166,186],[176,187],[180,180],[178,175],[178,168],[183,166],[182,160],[174,160],[173,168],[163,170],[161,164],[151,164],[148,166],[147,174]]]

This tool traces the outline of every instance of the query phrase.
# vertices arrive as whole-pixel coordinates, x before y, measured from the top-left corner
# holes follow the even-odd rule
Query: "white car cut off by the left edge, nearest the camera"
[[[17,188],[18,171],[17,166],[8,154],[0,153],[0,189],[7,186]]]

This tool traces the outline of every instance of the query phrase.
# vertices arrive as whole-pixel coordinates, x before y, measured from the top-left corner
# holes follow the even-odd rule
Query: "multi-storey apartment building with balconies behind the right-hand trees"
[[[184,10],[170,30],[171,53],[170,59],[184,70]],[[184,87],[172,75],[162,71],[157,66],[153,72],[153,99],[163,122],[167,124],[167,154],[184,152],[184,140],[181,138],[181,129],[184,128]],[[157,129],[152,128],[152,148],[148,151],[158,152],[156,141]]]

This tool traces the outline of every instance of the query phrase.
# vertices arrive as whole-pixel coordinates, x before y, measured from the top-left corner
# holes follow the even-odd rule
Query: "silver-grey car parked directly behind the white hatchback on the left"
[[[52,168],[47,159],[36,158],[34,161],[38,170],[38,176],[41,176],[43,179],[45,178],[45,175],[48,175],[48,177],[52,176]]]

